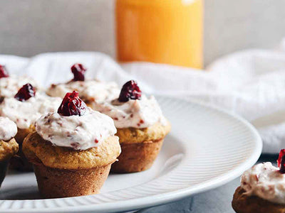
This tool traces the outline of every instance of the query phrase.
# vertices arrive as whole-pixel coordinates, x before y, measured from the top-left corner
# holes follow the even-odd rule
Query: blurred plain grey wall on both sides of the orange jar
[[[274,48],[285,1],[204,0],[204,65],[244,48]],[[90,50],[115,58],[115,1],[0,0],[0,53]]]

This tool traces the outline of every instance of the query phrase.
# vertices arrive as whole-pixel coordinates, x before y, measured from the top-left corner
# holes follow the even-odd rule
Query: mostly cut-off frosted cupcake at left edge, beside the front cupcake
[[[19,148],[14,139],[16,133],[16,124],[8,118],[0,117],[0,186],[5,178],[10,158]]]

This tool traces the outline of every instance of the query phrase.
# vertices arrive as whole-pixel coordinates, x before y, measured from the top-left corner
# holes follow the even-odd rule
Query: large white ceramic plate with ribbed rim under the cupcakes
[[[0,212],[122,212],[162,204],[223,185],[261,154],[257,131],[238,116],[195,102],[158,97],[172,131],[155,164],[110,175],[100,195],[39,200],[33,173],[8,175]],[[21,199],[21,200],[20,200]]]

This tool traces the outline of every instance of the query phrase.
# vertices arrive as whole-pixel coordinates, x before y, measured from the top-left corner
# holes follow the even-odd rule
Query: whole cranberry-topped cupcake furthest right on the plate
[[[132,80],[123,85],[117,99],[94,102],[91,107],[110,116],[117,128],[122,153],[111,170],[134,173],[150,168],[170,131],[155,97],[147,98]]]

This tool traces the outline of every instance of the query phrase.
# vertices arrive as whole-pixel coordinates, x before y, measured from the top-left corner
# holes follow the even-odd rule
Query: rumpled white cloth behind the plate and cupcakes
[[[33,58],[0,55],[10,72],[29,75],[43,85],[72,78],[70,67],[81,62],[87,77],[122,85],[135,79],[143,91],[197,99],[243,116],[257,127],[264,153],[285,148],[285,41],[278,50],[244,50],[227,55],[207,71],[149,62],[118,65],[94,52],[43,53]],[[214,124],[213,124],[214,125]]]

